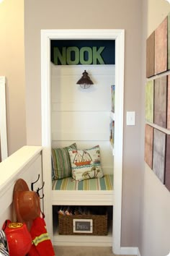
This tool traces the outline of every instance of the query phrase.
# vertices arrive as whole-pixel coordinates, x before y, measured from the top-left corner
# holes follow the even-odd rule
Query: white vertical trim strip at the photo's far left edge
[[[0,77],[0,139],[1,161],[8,157],[7,132],[6,132],[6,88],[5,77]]]

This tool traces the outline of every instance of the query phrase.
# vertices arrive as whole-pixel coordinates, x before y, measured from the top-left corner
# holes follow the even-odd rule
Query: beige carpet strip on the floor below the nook
[[[54,249],[56,256],[114,256],[111,247],[54,247]]]

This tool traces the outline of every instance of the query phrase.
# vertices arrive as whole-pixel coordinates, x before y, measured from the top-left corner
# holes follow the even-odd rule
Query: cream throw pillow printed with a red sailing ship
[[[68,150],[71,158],[72,178],[76,180],[102,178],[99,145],[87,150]]]

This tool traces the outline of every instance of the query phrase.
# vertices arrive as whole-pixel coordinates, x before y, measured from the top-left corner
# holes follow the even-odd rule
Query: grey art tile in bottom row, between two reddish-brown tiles
[[[153,129],[153,172],[164,184],[166,134]]]

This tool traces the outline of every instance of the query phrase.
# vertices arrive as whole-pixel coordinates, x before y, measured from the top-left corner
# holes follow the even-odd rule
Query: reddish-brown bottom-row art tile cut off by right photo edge
[[[170,191],[170,135],[166,135],[165,186]]]

